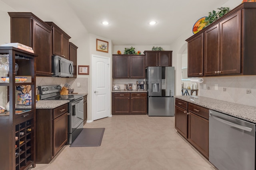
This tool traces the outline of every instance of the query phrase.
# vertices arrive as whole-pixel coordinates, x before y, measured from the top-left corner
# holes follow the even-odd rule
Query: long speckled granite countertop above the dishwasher
[[[175,98],[256,123],[256,107],[226,102],[202,96],[175,96]]]

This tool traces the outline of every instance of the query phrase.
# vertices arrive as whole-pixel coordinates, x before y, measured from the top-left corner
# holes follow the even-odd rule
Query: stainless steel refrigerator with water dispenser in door
[[[146,68],[149,116],[174,116],[174,67]]]

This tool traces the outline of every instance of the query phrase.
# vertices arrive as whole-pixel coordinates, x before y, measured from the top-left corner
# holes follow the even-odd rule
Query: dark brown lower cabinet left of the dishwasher
[[[208,111],[209,109],[196,104],[175,100],[175,129],[207,159],[209,159]]]

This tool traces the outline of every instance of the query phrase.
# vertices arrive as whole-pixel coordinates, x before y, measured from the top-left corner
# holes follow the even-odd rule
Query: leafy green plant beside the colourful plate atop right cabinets
[[[218,20],[219,18],[221,18],[222,16],[230,12],[229,7],[220,7],[217,9],[220,11],[216,12],[215,10],[212,10],[212,12],[209,12],[209,16],[206,17],[204,20],[205,22],[207,22],[204,27],[206,27],[207,25],[210,25],[214,21]]]

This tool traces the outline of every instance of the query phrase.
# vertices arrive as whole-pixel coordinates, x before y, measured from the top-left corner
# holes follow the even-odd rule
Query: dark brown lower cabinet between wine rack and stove
[[[48,164],[68,141],[68,104],[36,109],[36,163]]]

